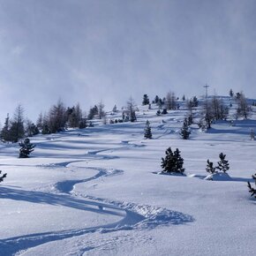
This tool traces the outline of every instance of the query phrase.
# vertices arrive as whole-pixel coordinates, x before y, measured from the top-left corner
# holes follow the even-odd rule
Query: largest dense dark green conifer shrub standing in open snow
[[[178,148],[172,152],[171,148],[167,148],[165,151],[165,158],[162,157],[162,171],[163,172],[174,172],[174,173],[184,173],[183,163],[184,160],[180,155]]]

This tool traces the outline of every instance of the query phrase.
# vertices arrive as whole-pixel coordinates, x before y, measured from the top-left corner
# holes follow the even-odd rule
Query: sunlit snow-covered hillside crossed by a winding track
[[[256,201],[246,186],[255,115],[230,122],[233,104],[229,120],[207,132],[192,124],[184,140],[180,105],[160,117],[156,106],[140,107],[135,123],[94,120],[36,136],[28,159],[18,159],[18,145],[0,144],[0,255],[255,254]],[[153,139],[144,139],[147,120]],[[158,175],[167,147],[181,151],[184,176]],[[207,159],[217,164],[221,152],[228,174],[207,176]]]

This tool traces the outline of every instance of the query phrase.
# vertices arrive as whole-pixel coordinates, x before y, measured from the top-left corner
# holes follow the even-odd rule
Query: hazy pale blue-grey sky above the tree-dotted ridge
[[[152,100],[256,98],[254,0],[0,0],[0,120],[21,103],[35,121],[63,99],[107,109]]]

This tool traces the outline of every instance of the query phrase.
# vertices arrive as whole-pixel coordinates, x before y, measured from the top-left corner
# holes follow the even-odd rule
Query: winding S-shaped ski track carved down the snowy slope
[[[136,145],[130,144],[130,141],[122,141],[122,144],[128,145],[128,147],[144,147],[144,145]],[[127,146],[126,146],[127,147]],[[110,149],[103,149],[94,151],[88,154],[99,154],[103,151],[107,151]],[[111,148],[113,150],[113,148]],[[106,159],[105,155],[99,154],[99,157],[102,159]],[[115,156],[113,156],[115,157]],[[108,159],[111,156],[107,156]],[[111,158],[112,159],[112,158]],[[51,163],[47,165],[40,165],[38,167],[46,167],[46,168],[72,168],[72,163],[76,162],[86,162],[83,161],[70,161],[70,162],[57,162]],[[85,168],[85,167],[82,167]],[[86,167],[87,169],[95,169],[98,171],[93,177],[88,177],[85,179],[77,179],[77,180],[65,180],[61,182],[57,182],[54,184],[55,194],[45,193],[47,202],[48,198],[53,196],[55,199],[59,196],[61,197],[63,194],[72,197],[73,200],[76,200],[78,197],[92,200],[88,202],[85,200],[85,204],[89,204],[90,207],[94,207],[94,212],[109,214],[109,215],[120,215],[124,216],[118,222],[109,223],[102,226],[96,226],[86,229],[75,229],[75,230],[61,230],[61,231],[52,231],[52,232],[43,232],[43,233],[35,233],[25,236],[19,237],[9,237],[0,240],[0,255],[22,255],[26,253],[27,250],[34,248],[38,245],[43,245],[49,242],[63,240],[71,237],[79,237],[82,235],[86,235],[88,233],[108,233],[115,232],[118,230],[143,230],[143,229],[154,229],[160,225],[168,225],[168,224],[182,224],[185,222],[193,222],[193,218],[191,215],[185,215],[183,213],[177,211],[171,211],[162,207],[152,207],[148,205],[137,205],[130,202],[122,202],[108,199],[96,198],[90,195],[81,194],[75,192],[75,185],[80,183],[87,183],[91,180],[95,180],[100,177],[110,177],[122,174],[124,171],[120,169],[102,169],[102,168],[94,168],[94,167]],[[35,192],[36,193],[36,192]],[[40,196],[43,197],[44,193],[40,192]],[[36,195],[35,195],[36,196]],[[63,198],[59,198],[59,200],[64,200]],[[79,200],[81,202],[82,200]],[[69,207],[68,204],[63,204],[66,207]],[[86,210],[87,207],[80,208],[81,210]],[[92,209],[91,209],[92,210]],[[87,243],[88,244],[88,243]],[[98,247],[98,246],[96,246]],[[80,252],[93,250],[95,246],[87,245],[84,249],[79,249]]]

